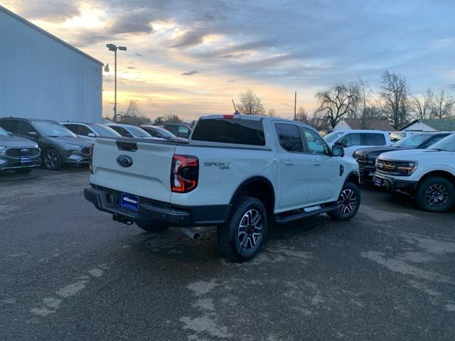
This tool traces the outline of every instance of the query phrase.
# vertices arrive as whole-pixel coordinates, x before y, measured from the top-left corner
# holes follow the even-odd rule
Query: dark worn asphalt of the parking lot
[[[350,222],[272,227],[232,264],[113,222],[87,171],[0,175],[0,340],[454,340],[455,212],[372,188]]]

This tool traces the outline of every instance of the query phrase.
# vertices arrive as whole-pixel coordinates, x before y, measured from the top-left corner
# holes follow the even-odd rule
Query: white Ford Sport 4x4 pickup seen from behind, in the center
[[[201,117],[188,144],[98,138],[91,160],[84,193],[98,210],[151,232],[217,226],[233,261],[257,254],[272,218],[349,220],[360,205],[358,163],[287,119]]]

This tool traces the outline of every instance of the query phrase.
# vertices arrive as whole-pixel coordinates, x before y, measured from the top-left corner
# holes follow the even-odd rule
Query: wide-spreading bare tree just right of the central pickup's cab
[[[319,102],[316,114],[323,114],[334,128],[343,116],[355,112],[360,100],[360,91],[357,84],[340,84],[316,92],[315,97]]]

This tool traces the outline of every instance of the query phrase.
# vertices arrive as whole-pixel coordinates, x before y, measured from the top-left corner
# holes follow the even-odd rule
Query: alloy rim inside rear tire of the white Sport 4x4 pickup
[[[244,250],[256,249],[262,239],[262,215],[258,210],[249,210],[240,220],[238,241]]]

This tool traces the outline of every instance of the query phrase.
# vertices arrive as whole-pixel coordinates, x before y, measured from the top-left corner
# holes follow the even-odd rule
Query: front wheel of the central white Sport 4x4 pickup
[[[345,183],[341,190],[336,210],[327,212],[333,220],[346,221],[354,217],[360,207],[360,190],[355,183]]]

